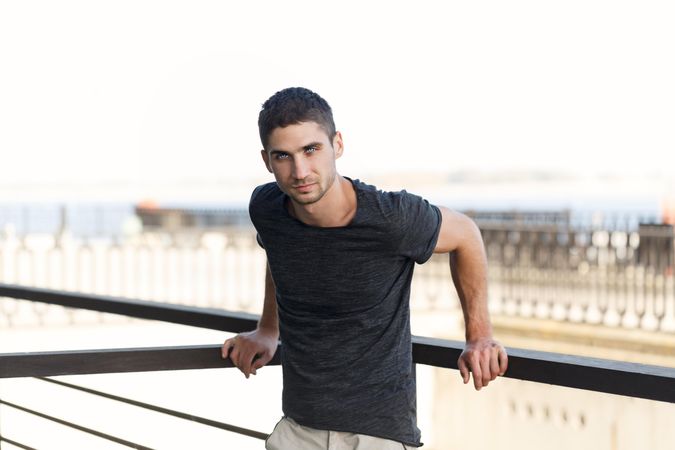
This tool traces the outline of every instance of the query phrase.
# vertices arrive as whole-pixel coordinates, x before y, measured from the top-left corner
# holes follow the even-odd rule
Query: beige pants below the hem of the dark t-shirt
[[[342,431],[317,430],[284,417],[265,441],[267,450],[408,450],[389,439]]]

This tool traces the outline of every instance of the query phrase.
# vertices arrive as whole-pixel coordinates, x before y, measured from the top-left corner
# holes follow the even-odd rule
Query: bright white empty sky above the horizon
[[[7,181],[264,176],[257,114],[331,103],[342,174],[660,172],[670,1],[3,1]]]

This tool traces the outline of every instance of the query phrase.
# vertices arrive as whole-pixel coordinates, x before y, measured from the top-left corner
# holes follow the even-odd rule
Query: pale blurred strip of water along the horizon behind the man
[[[383,186],[385,189],[394,187]],[[667,198],[657,185],[638,182],[600,183],[573,181],[564,183],[454,183],[443,186],[411,187],[434,204],[459,211],[563,211],[572,212],[573,221],[589,223],[606,217],[631,217],[633,222],[655,222],[662,215]],[[225,201],[180,199],[160,201],[163,208],[245,210],[246,196]],[[213,198],[213,195],[202,198]],[[12,229],[19,235],[55,233],[62,223],[78,237],[118,237],[133,231],[135,204],[117,202],[28,202],[0,204],[0,231]],[[621,219],[623,220],[623,219]]]

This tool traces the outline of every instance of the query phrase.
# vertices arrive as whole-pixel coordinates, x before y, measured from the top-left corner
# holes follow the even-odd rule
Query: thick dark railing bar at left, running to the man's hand
[[[0,353],[0,379],[233,367],[220,345]],[[269,365],[278,365],[279,352]]]

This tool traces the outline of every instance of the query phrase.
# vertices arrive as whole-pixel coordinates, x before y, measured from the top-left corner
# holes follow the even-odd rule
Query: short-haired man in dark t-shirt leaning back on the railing
[[[342,135],[312,91],[277,92],[258,127],[276,179],[257,187],[249,206],[267,253],[264,307],[257,329],[225,341],[222,354],[248,378],[281,337],[284,418],[267,448],[421,445],[409,310],[415,262],[450,254],[466,324],[464,383],[473,374],[481,389],[507,368],[492,339],[480,231],[418,196],[340,176]]]

